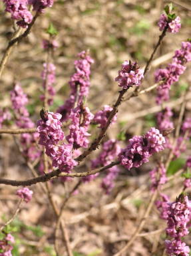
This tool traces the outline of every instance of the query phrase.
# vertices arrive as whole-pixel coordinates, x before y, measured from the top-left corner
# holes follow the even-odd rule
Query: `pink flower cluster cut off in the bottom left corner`
[[[0,240],[0,256],[12,256],[13,246],[9,242],[15,243],[15,239],[10,233]]]

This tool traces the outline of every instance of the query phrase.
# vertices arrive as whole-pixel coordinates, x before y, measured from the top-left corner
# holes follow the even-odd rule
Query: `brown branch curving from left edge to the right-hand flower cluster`
[[[111,168],[114,165],[119,164],[119,161],[111,162],[110,164],[102,167],[97,168],[95,170],[87,171],[87,172],[61,172],[61,170],[53,170],[52,172],[49,172],[47,174],[43,174],[41,176],[37,176],[35,178],[31,178],[29,180],[9,180],[6,178],[0,178],[0,184],[7,184],[11,186],[31,186],[32,184],[37,184],[39,182],[46,182],[48,180],[51,180],[51,178],[56,178],[59,176],[68,176],[68,177],[85,177],[89,176],[91,174],[96,174],[97,172],[102,172],[103,170],[106,170],[108,168]]]

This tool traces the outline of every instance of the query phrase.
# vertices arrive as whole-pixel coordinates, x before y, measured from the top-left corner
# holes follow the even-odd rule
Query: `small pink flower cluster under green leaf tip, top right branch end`
[[[161,14],[158,21],[158,27],[160,31],[163,31],[167,28],[167,31],[170,33],[177,33],[181,27],[180,17],[177,16],[175,19],[169,19],[166,14]]]

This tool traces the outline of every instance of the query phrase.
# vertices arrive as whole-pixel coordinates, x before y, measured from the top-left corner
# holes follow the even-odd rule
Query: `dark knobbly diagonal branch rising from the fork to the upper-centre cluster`
[[[123,98],[125,92],[126,92],[126,90],[124,90],[124,89],[119,92],[118,99],[116,100],[116,103],[112,107],[112,111],[110,112],[110,115],[108,116],[106,125],[104,126],[104,128],[102,128],[100,130],[98,137],[95,138],[95,140],[92,142],[91,146],[87,150],[85,150],[85,152],[83,152],[83,154],[81,154],[75,160],[81,162],[85,157],[87,157],[89,154],[91,154],[91,152],[93,150],[96,150],[96,148],[98,148],[98,146],[100,145],[100,142],[102,141],[102,138],[104,138],[104,136],[105,136],[106,130],[107,130],[108,126],[110,125],[112,118],[114,117],[116,112],[118,112],[118,106],[121,104],[122,98]]]

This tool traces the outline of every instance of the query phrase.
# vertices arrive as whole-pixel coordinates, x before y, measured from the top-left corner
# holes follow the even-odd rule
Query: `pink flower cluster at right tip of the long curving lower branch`
[[[150,130],[144,136],[134,136],[129,140],[126,148],[119,154],[120,164],[130,170],[132,167],[139,167],[148,158],[164,149],[165,138],[156,128]]]

